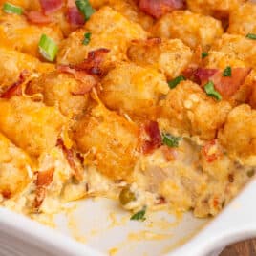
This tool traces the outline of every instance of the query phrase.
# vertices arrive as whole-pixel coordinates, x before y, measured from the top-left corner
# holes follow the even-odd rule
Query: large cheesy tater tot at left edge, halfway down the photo
[[[1,99],[0,109],[0,131],[34,157],[55,146],[65,124],[54,107],[23,96]]]

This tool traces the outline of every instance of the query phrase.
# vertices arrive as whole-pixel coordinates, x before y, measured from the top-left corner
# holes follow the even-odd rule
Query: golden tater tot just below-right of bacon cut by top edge
[[[221,37],[221,21],[191,11],[173,11],[160,18],[153,28],[155,36],[179,38],[189,47],[203,50],[210,48],[214,40]]]

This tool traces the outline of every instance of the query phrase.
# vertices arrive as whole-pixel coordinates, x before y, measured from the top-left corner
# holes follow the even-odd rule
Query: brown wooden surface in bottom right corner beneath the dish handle
[[[229,245],[220,256],[256,256],[256,239]]]

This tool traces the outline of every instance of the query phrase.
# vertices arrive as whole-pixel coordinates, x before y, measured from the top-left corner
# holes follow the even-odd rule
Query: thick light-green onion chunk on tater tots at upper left
[[[58,47],[52,38],[48,37],[46,34],[42,34],[39,41],[39,52],[44,58],[49,61],[53,61],[57,52]]]

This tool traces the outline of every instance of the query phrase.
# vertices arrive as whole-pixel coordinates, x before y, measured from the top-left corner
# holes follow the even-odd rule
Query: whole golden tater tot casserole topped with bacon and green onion
[[[217,215],[256,168],[256,4],[0,0],[0,205]],[[89,209],[90,210],[90,209]]]

